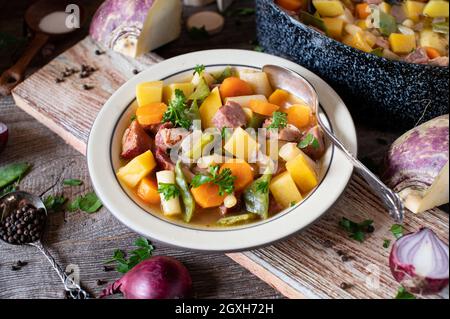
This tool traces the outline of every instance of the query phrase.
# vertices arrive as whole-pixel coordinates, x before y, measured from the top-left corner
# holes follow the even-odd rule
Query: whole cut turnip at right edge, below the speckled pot
[[[421,213],[449,202],[449,116],[428,121],[401,136],[386,157],[386,184],[406,208]]]

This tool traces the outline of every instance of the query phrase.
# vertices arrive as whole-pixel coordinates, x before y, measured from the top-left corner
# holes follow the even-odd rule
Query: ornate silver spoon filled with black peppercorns
[[[19,203],[21,201],[24,201],[27,204],[31,204],[36,209],[43,212],[45,214],[43,224],[45,224],[45,220],[47,219],[47,209],[45,208],[45,205],[42,202],[41,198],[21,191],[11,192],[0,197],[0,222],[3,222],[3,220],[6,217],[8,217],[12,212],[14,212],[19,207]],[[29,245],[36,247],[50,262],[53,269],[56,271],[59,278],[61,279],[64,285],[64,289],[68,292],[69,296],[72,299],[89,298],[89,294],[86,291],[84,291],[76,282],[74,282],[74,280],[71,277],[67,276],[64,270],[56,263],[55,259],[50,255],[49,251],[42,244],[41,235],[42,232],[38,234],[38,239],[36,241],[29,242],[26,244],[10,243],[8,241],[5,241],[2,237],[0,237],[0,239],[9,245],[16,245],[16,246]]]

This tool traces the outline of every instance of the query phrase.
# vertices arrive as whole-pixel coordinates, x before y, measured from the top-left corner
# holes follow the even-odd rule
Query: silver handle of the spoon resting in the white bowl
[[[383,200],[384,204],[389,209],[389,214],[395,221],[401,223],[403,221],[404,207],[403,203],[392,189],[387,187],[374,173],[372,173],[363,163],[361,163],[355,155],[353,155],[347,148],[339,141],[339,139],[331,133],[327,127],[323,126],[323,130],[328,138],[336,145],[352,162],[353,166],[359,174],[366,180],[371,188]]]

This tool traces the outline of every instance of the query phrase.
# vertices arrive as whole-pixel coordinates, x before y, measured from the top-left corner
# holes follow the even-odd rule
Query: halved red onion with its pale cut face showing
[[[405,235],[389,257],[394,278],[411,293],[437,294],[448,285],[448,245],[428,228]]]

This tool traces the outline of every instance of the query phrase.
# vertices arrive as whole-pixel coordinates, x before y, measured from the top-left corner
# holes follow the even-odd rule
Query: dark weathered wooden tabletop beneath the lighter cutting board
[[[22,35],[22,15],[30,1],[2,2],[0,4],[0,32]],[[92,12],[100,1],[84,1]],[[236,1],[232,9],[253,6],[253,0]],[[214,6],[211,6],[213,8]],[[196,9],[187,8],[188,16]],[[230,12],[234,12],[233,10]],[[3,17],[4,15],[4,17]],[[1,34],[0,34],[1,35]],[[62,52],[84,36],[83,32],[67,41],[55,43],[50,55],[40,56],[34,69],[46,63],[51,56]],[[254,16],[227,15],[222,33],[209,39],[193,40],[186,30],[179,40],[157,50],[164,58],[178,54],[215,48],[255,47]],[[20,41],[17,42],[20,46]],[[0,71],[8,67],[17,56],[11,50],[1,51]],[[48,51],[48,50],[44,51]],[[68,198],[91,191],[85,158],[44,126],[20,111],[11,97],[0,98],[0,121],[11,129],[10,143],[0,155],[0,166],[27,161],[33,164],[30,174],[21,183],[21,188],[34,193],[63,193]],[[383,154],[400,132],[381,131],[357,121],[359,154],[367,164],[376,169]],[[81,187],[63,187],[64,178],[79,178],[85,181]],[[135,233],[119,224],[105,209],[93,215],[83,213],[58,213],[50,218],[45,243],[62,265],[79,267],[83,284],[94,295],[102,289],[97,280],[112,281],[120,275],[103,272],[103,261],[114,249],[128,250],[137,237]],[[64,291],[58,278],[33,248],[19,249],[0,243],[0,298],[60,298]],[[185,263],[193,274],[196,296],[200,298],[280,298],[271,287],[261,282],[222,254],[200,254],[179,251],[158,245],[156,254],[175,256]],[[14,272],[11,266],[17,261],[28,265]]]

